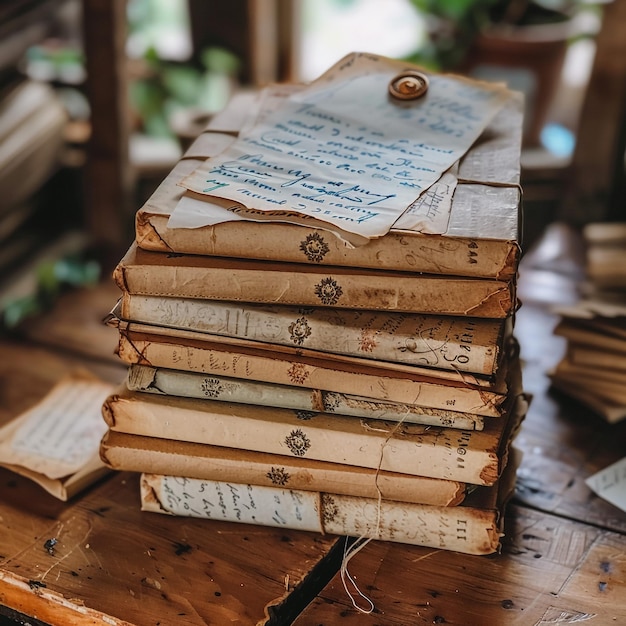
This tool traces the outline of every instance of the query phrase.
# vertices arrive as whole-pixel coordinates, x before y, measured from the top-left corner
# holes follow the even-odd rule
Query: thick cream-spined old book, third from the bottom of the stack
[[[477,485],[500,475],[512,436],[526,414],[520,395],[483,431],[366,420],[256,405],[129,391],[103,405],[111,430],[205,443]]]

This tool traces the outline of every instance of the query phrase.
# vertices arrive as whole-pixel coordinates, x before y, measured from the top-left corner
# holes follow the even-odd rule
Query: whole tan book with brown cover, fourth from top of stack
[[[377,400],[419,404],[421,406],[497,416],[502,412],[509,381],[499,381],[493,388],[457,379],[435,378],[388,368],[341,363],[308,356],[281,354],[245,345],[226,344],[212,337],[147,325],[137,328],[120,321],[118,354],[130,364],[179,369],[232,378],[292,385]],[[507,363],[508,378],[517,376],[516,359]],[[503,368],[500,368],[503,369]]]

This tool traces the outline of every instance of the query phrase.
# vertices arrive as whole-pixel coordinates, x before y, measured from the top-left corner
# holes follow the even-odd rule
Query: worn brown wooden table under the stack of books
[[[64,504],[1,471],[0,615],[53,625],[626,624],[626,514],[584,482],[624,455],[626,421],[606,424],[546,377],[564,347],[548,309],[571,300],[572,285],[541,255],[524,260],[516,334],[534,399],[516,439],[524,459],[502,554],[371,542],[348,567],[373,602],[364,614],[339,575],[343,538],[141,513],[129,473]],[[111,285],[68,294],[19,341],[0,342],[0,423],[77,364],[122,380],[114,332],[100,324],[115,298]]]

